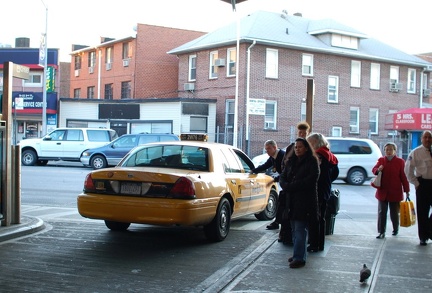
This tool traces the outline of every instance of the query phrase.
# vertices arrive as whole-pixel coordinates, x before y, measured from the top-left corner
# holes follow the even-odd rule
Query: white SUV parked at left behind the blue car
[[[79,162],[81,154],[104,146],[117,138],[117,132],[103,128],[57,128],[43,138],[20,141],[21,163],[44,166],[48,161]]]

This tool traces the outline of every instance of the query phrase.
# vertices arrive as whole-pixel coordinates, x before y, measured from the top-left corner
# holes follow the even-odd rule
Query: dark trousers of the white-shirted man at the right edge
[[[420,240],[432,238],[432,180],[419,178],[416,189],[417,227]]]

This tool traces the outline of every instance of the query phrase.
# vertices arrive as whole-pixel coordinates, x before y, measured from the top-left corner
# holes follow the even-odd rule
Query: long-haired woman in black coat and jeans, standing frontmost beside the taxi
[[[285,216],[291,222],[294,243],[290,268],[306,264],[309,222],[318,217],[318,159],[304,138],[297,138],[294,154],[288,159],[279,184],[286,193]]]

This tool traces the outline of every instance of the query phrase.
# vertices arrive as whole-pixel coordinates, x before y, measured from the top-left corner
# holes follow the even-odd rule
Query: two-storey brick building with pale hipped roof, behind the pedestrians
[[[250,156],[262,153],[267,139],[280,146],[295,139],[295,125],[306,119],[308,80],[315,90],[313,131],[370,137],[379,145],[408,139],[385,130],[385,116],[422,106],[431,63],[333,20],[259,11],[240,21],[236,76],[236,31],[234,23],[169,52],[180,61],[179,96],[216,99],[216,125],[228,143],[236,78],[238,146]]]

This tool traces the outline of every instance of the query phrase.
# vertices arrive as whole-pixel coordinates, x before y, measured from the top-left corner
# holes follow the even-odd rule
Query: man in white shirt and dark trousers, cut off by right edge
[[[432,239],[432,132],[422,133],[421,145],[416,147],[405,162],[405,174],[416,189],[417,226],[420,245]]]

